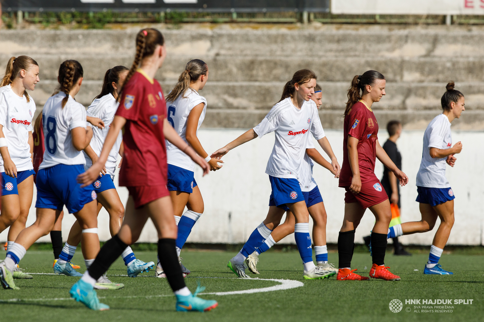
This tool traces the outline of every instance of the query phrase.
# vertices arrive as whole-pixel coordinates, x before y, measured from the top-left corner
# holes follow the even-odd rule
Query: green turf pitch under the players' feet
[[[205,292],[225,292],[278,285],[274,281],[233,279],[226,267],[235,255],[225,251],[184,251],[184,264],[192,274],[185,278],[187,286],[194,291],[197,280],[206,286]],[[156,261],[154,251],[137,251],[144,261]],[[0,321],[483,321],[484,312],[484,256],[447,255],[440,263],[454,271],[453,276],[423,275],[423,264],[428,255],[414,254],[399,257],[387,254],[386,265],[400,275],[401,281],[383,280],[336,281],[335,277],[324,280],[302,279],[299,253],[267,252],[260,256],[259,278],[295,279],[303,287],[268,293],[238,295],[201,295],[216,299],[219,307],[206,313],[181,313],[175,311],[175,299],[165,279],[149,277],[128,278],[112,276],[126,274],[121,260],[113,264],[108,277],[125,284],[117,291],[98,291],[101,302],[108,304],[109,311],[95,312],[80,303],[69,300],[69,288],[78,278],[53,275],[34,275],[30,280],[16,280],[19,291],[0,289]],[[337,254],[329,254],[330,263],[337,263]],[[74,263],[84,261],[77,252]],[[355,253],[353,267],[357,273],[368,276],[371,266],[369,254]],[[26,272],[52,273],[50,251],[30,251],[20,266]],[[415,271],[418,269],[418,271]],[[111,275],[111,276],[109,276]],[[251,275],[255,277],[255,275]],[[201,277],[201,278],[197,278]],[[208,278],[219,277],[219,278]],[[165,296],[166,295],[166,296]],[[10,299],[20,301],[8,301]],[[52,300],[57,298],[58,300]],[[453,305],[452,313],[417,313],[414,305],[406,305],[405,299],[473,299],[472,305]],[[393,313],[389,302],[399,299],[403,309]],[[7,302],[6,302],[7,301]],[[432,305],[430,305],[432,306]],[[411,312],[406,308],[410,307]]]

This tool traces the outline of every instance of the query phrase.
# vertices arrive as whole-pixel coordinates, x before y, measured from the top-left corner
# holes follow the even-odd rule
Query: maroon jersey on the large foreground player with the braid
[[[123,88],[116,115],[127,120],[120,186],[166,185],[166,102],[160,84],[138,70]]]

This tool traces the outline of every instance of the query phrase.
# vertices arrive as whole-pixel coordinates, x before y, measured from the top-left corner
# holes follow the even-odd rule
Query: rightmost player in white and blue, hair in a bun
[[[439,264],[443,248],[449,239],[454,225],[454,191],[445,177],[445,163],[454,167],[462,143],[452,146],[451,123],[465,111],[464,94],[454,89],[454,82],[447,84],[447,91],[442,95],[440,104],[442,114],[434,117],[423,134],[423,153],[420,169],[417,173],[417,202],[419,202],[422,220],[404,222],[390,228],[388,238],[402,234],[424,233],[432,230],[437,217],[440,218],[439,229],[435,233],[428,262],[423,274],[449,275]],[[452,147],[451,147],[452,146]]]

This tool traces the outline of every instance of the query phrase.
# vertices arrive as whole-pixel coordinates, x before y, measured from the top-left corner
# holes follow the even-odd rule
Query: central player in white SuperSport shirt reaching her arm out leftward
[[[286,205],[296,217],[294,237],[304,264],[304,278],[324,278],[333,271],[325,271],[313,263],[311,237],[309,236],[309,213],[298,180],[302,180],[302,160],[308,145],[309,131],[331,158],[333,171],[339,172],[331,145],[324,135],[318,108],[311,100],[316,86],[313,71],[302,69],[294,73],[286,83],[282,97],[254,129],[251,129],[212,154],[220,158],[236,146],[275,132],[275,143],[267,162],[266,173],[272,186],[269,200],[269,213],[266,219],[250,235],[242,250],[233,257],[227,266],[240,278],[250,278],[245,274],[245,259],[259,248],[272,230],[279,225]]]

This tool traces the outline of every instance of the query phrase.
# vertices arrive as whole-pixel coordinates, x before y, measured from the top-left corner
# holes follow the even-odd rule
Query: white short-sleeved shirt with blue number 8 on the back
[[[62,108],[64,97],[65,93],[60,92],[45,102],[42,111],[45,152],[39,170],[57,164],[86,163],[84,154],[73,146],[71,134],[72,129],[86,129],[86,108],[76,102],[71,95]]]

